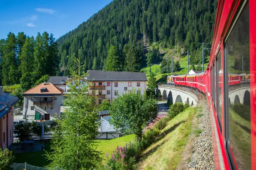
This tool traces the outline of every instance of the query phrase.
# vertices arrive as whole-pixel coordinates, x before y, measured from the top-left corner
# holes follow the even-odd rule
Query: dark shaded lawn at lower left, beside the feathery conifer
[[[46,144],[47,151],[50,150],[50,142]],[[46,152],[44,150],[37,151],[37,152],[29,152],[29,153],[17,153],[15,154],[15,163],[27,163],[30,165],[44,167],[49,164],[47,161],[46,156],[44,156]]]

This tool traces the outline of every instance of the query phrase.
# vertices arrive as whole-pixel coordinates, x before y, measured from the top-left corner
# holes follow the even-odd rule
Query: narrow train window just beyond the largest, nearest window
[[[220,125],[220,127],[221,127],[221,122],[222,122],[222,119],[221,119],[221,117],[222,117],[222,110],[221,110],[221,90],[222,90],[222,88],[221,88],[221,85],[222,85],[222,82],[221,82],[221,76],[222,76],[222,69],[221,69],[221,55],[219,54],[218,55],[218,58],[217,58],[217,64],[216,64],[216,66],[217,66],[217,117],[218,117],[218,121],[219,121],[219,125]]]

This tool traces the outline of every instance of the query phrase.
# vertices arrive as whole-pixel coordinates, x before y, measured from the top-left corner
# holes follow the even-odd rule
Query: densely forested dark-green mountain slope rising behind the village
[[[146,65],[147,47],[196,51],[200,43],[211,46],[218,0],[113,0],[76,29],[57,40],[59,74],[68,74],[73,58],[84,61],[84,71],[105,68],[108,51],[117,49],[118,70],[125,70],[125,44],[137,49],[134,61]],[[116,48],[111,48],[114,45]],[[196,52],[192,62],[199,63]],[[136,59],[135,59],[136,58]],[[140,61],[138,61],[138,59]],[[117,62],[116,62],[117,63]],[[150,64],[150,62],[148,62]]]

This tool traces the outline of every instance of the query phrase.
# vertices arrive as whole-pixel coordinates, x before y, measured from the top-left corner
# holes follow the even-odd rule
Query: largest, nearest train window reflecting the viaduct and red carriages
[[[237,165],[239,170],[249,170],[251,169],[250,80],[241,82],[241,76],[250,75],[248,3],[240,12],[225,42],[225,71],[228,71],[230,77],[225,79],[225,105],[228,106],[226,107],[228,126],[226,140],[229,157],[233,158],[231,159],[233,169],[237,169]],[[225,76],[227,77],[227,73]]]

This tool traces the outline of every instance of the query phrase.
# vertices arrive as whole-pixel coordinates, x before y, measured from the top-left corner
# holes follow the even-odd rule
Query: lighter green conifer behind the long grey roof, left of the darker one
[[[105,71],[120,71],[119,52],[116,46],[111,45],[108,50],[108,57],[105,61]]]

